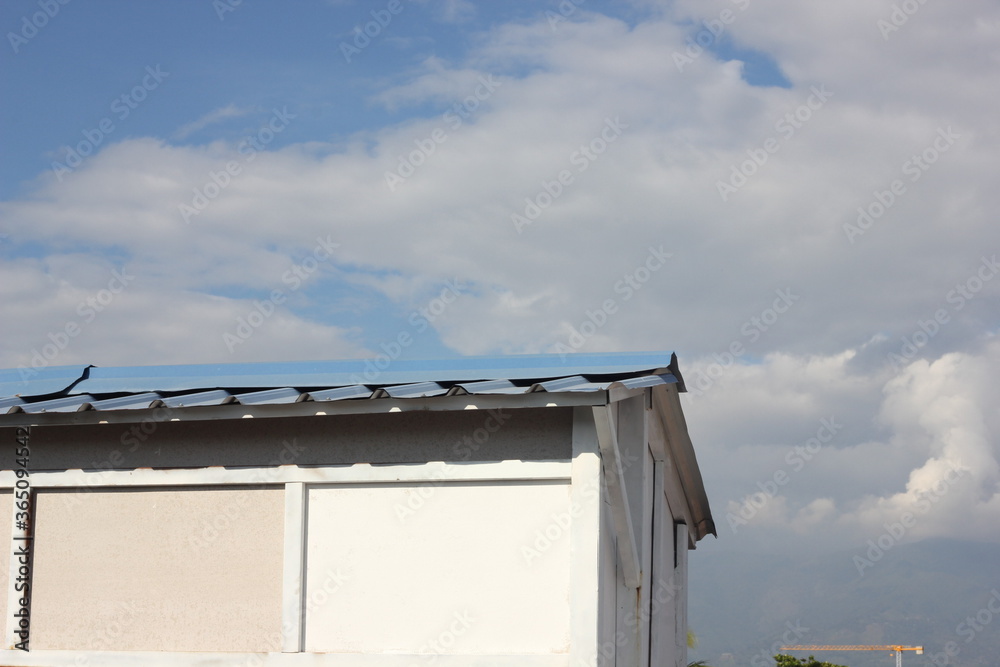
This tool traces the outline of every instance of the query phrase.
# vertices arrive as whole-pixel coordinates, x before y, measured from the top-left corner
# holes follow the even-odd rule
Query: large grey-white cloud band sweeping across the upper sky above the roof
[[[699,5],[697,16],[729,5]],[[30,200],[5,204],[2,215],[17,226],[15,241],[119,249],[163,289],[222,298],[230,286],[263,294],[280,285],[285,268],[330,235],[341,248],[324,275],[384,280],[393,301],[402,295],[390,283],[412,283],[419,300],[449,278],[474,281],[474,298],[456,306],[461,324],[441,332],[463,353],[552,350],[596,317],[596,335],[579,349],[721,353],[742,340],[751,357],[831,354],[880,332],[904,335],[952,308],[949,290],[972,275],[981,250],[992,252],[969,242],[996,238],[987,211],[997,193],[987,181],[998,154],[991,107],[981,104],[992,87],[976,84],[982,68],[966,68],[979,37],[958,38],[969,25],[953,17],[934,34],[959,51],[942,59],[939,69],[952,70],[934,80],[949,90],[956,79],[967,84],[954,90],[953,113],[938,108],[942,93],[926,83],[908,92],[919,103],[886,106],[869,87],[870,67],[834,67],[829,50],[817,51],[849,37],[858,48],[838,49],[837,58],[910,73],[908,58],[933,44],[907,31],[941,12],[966,16],[941,7],[922,9],[885,41],[868,3],[838,5],[833,20],[781,4],[801,14],[790,33],[775,32],[775,3],[748,5],[732,38],[766,46],[791,89],[750,86],[738,62],[708,52],[680,71],[672,56],[685,29],[666,18],[629,27],[581,11],[555,27],[500,26],[467,62],[428,61],[378,96],[432,102],[438,115],[344,146],[123,140],[62,182],[42,179]],[[272,120],[262,119],[261,137]],[[904,163],[933,153],[948,128],[946,152],[926,172],[907,172]],[[762,155],[766,163],[755,165]],[[734,169],[753,173],[722,201],[720,183],[743,181]],[[405,178],[390,188],[387,174],[399,173]],[[905,192],[891,194],[894,180]],[[844,225],[879,196],[895,202],[851,243]],[[198,210],[185,221],[182,205]],[[513,216],[530,224],[519,230]],[[942,234],[946,226],[963,233]],[[649,249],[660,247],[671,259],[647,275]],[[778,290],[795,295],[794,307],[744,340]],[[997,293],[989,283],[975,308],[950,314],[980,317]],[[604,318],[597,311],[608,300],[615,312]],[[325,323],[349,319],[334,313]],[[951,326],[946,335],[961,344],[967,331]]]

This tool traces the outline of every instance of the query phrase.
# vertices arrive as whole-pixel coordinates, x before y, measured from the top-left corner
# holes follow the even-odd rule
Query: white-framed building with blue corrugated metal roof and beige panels
[[[669,352],[0,371],[0,664],[683,667],[682,391]]]

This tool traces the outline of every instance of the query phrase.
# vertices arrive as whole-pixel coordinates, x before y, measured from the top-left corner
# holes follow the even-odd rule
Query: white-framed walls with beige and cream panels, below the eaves
[[[54,651],[188,651],[178,660],[202,664],[205,652],[243,660],[235,653],[252,651],[269,654],[262,664],[287,665],[304,650],[320,654],[301,656],[316,664],[324,654],[413,664],[416,654],[427,664],[469,655],[482,656],[469,664],[674,667],[685,657],[687,538],[675,571],[680,517],[666,491],[678,490],[664,488],[673,477],[663,448],[648,446],[648,409],[639,396],[614,410],[638,590],[624,582],[589,406],[512,411],[470,456],[456,443],[483,428],[487,411],[392,422],[409,433],[353,417],[164,423],[107,474],[63,472],[57,462],[120,446],[119,426],[84,427],[79,443],[73,429],[39,428],[39,460],[51,471],[33,476],[32,649],[41,662],[0,657],[68,664],[60,660],[72,654]],[[254,467],[282,451],[279,423],[308,454]],[[517,460],[532,452],[555,460]],[[232,467],[200,467],[216,455]],[[249,468],[237,465],[242,456]],[[414,457],[435,462],[411,465]],[[343,465],[355,458],[365,463]],[[168,459],[187,465],[133,469]],[[91,479],[97,486],[79,488]],[[234,483],[257,486],[218,486]]]

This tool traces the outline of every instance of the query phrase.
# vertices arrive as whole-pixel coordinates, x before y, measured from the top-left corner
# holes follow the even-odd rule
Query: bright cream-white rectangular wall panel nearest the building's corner
[[[310,489],[306,650],[567,652],[569,498],[567,483]]]

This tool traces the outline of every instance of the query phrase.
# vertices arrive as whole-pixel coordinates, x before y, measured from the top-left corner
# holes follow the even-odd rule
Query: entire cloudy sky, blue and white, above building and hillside
[[[704,548],[995,539],[995,0],[0,25],[0,367],[676,350]]]

